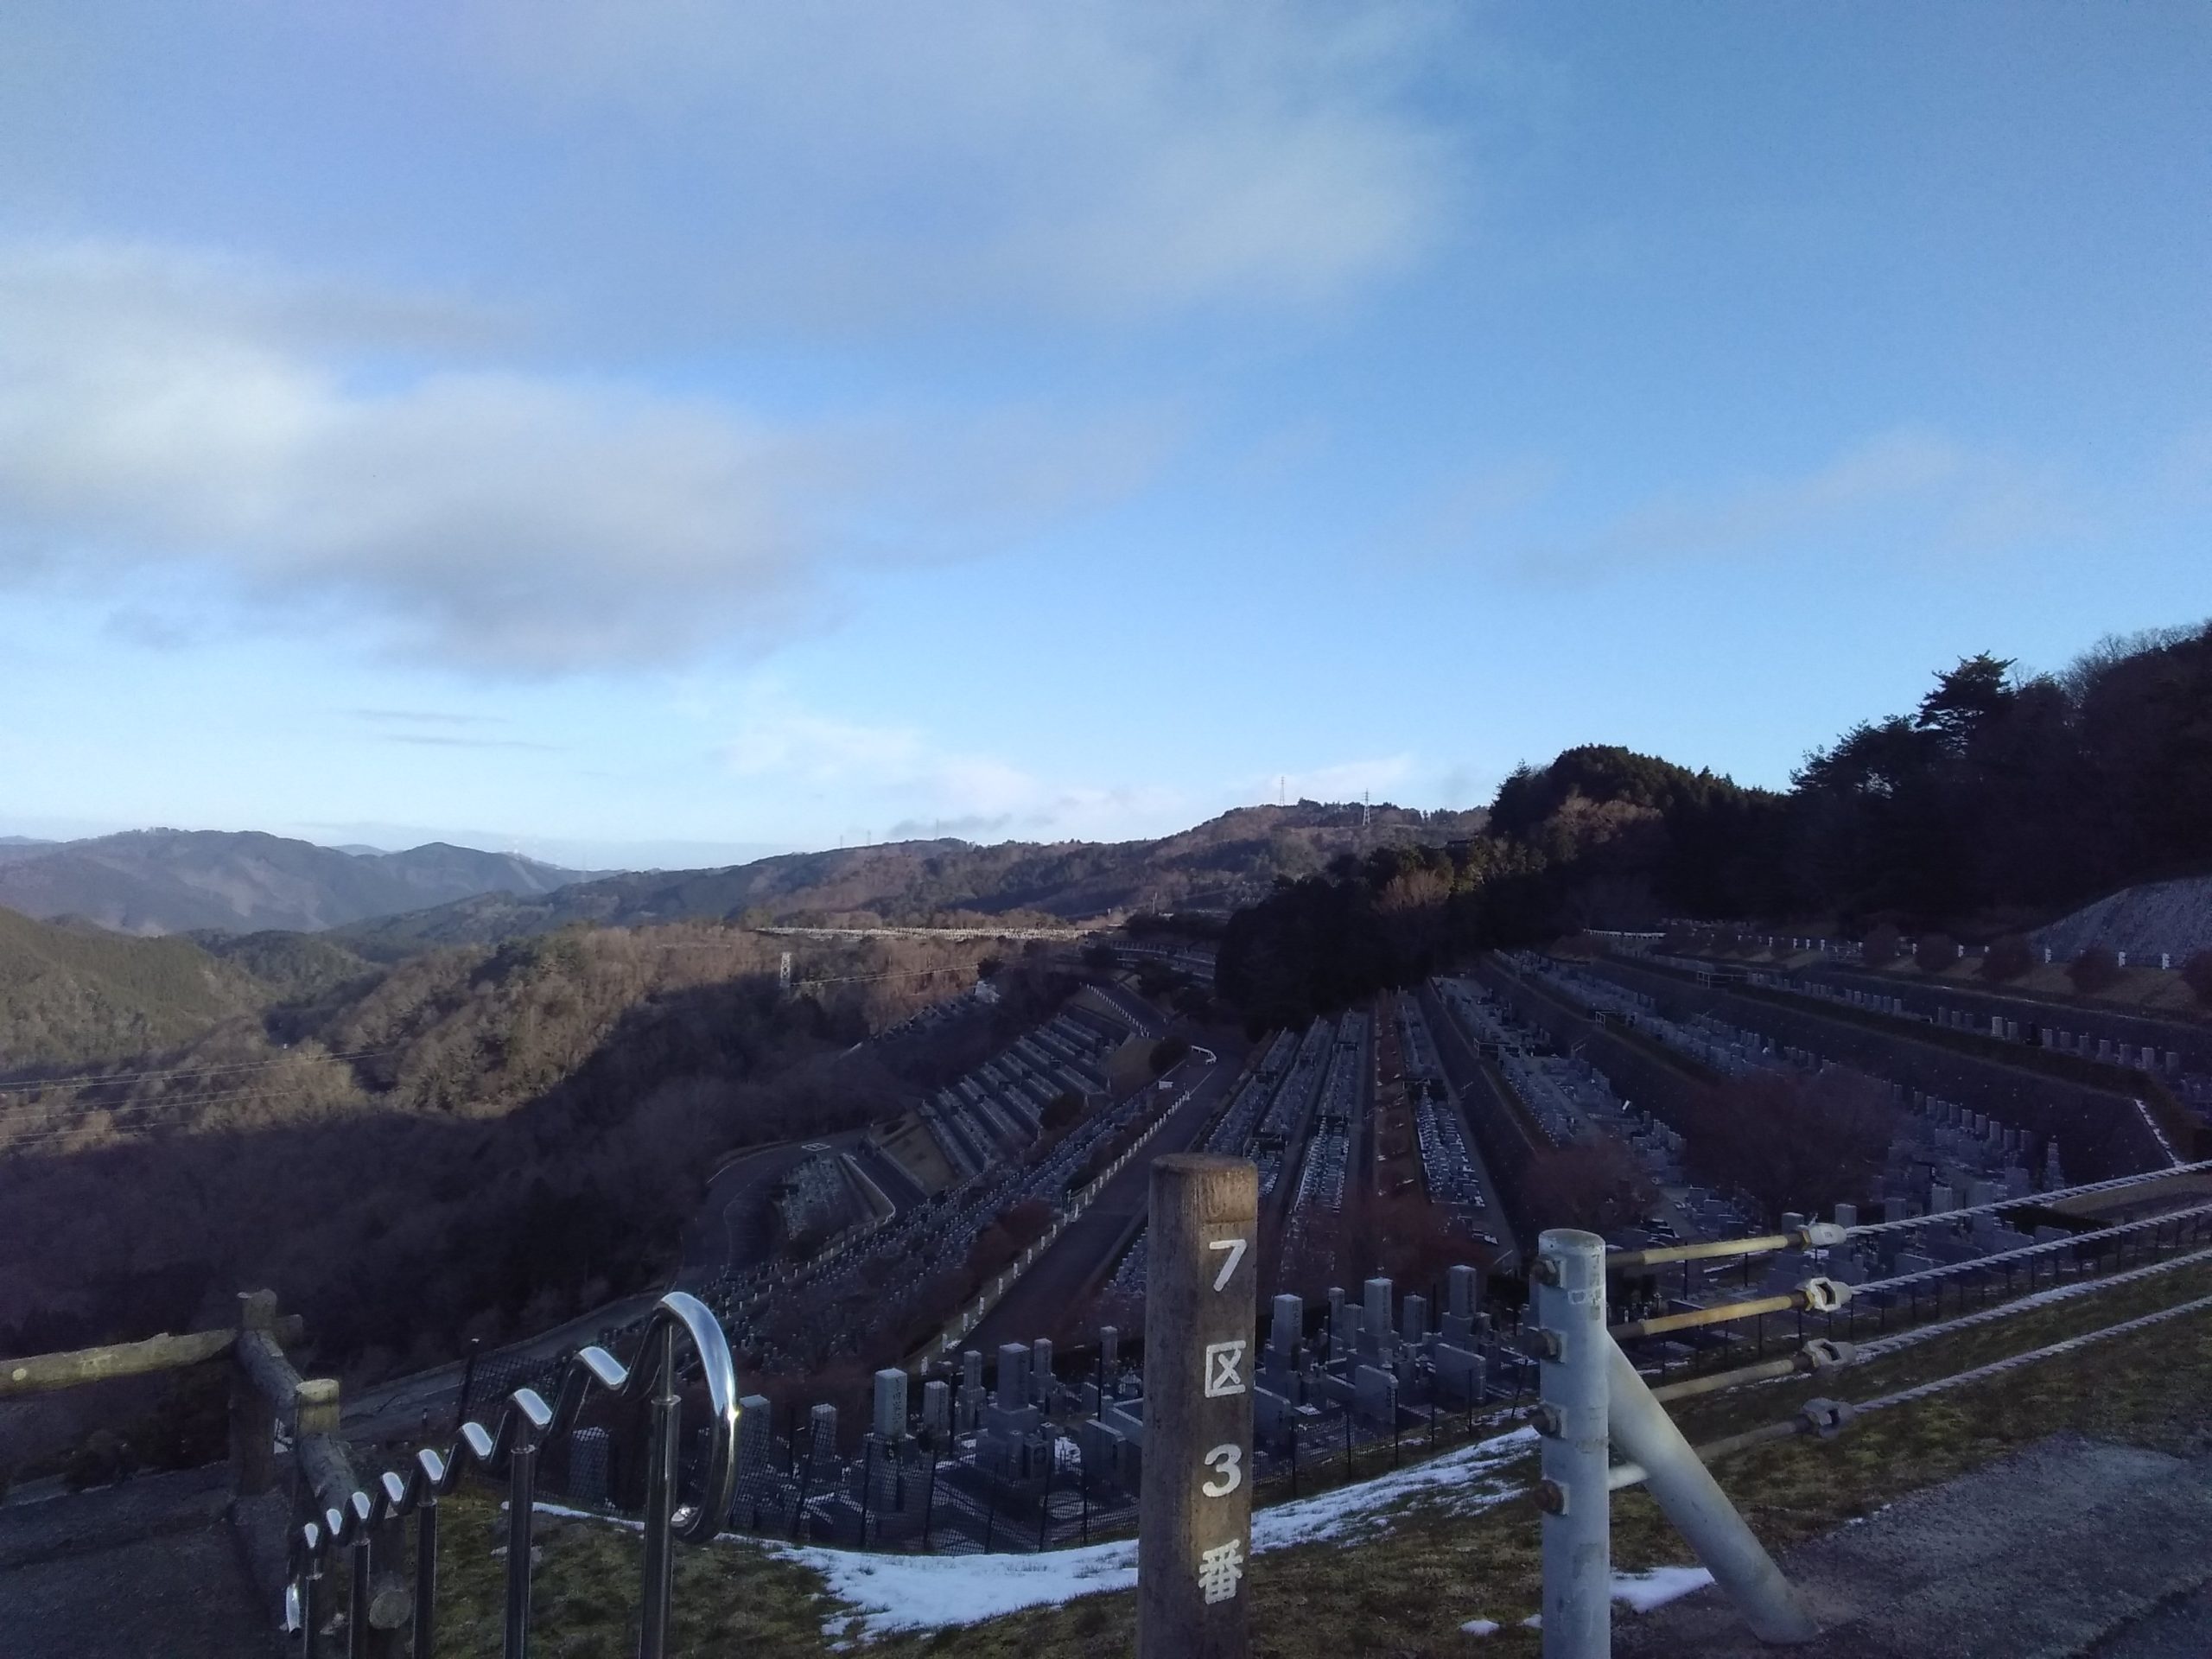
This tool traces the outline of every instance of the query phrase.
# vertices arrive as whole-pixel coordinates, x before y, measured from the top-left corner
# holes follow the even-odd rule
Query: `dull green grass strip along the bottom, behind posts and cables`
[[[1814,1394],[1867,1400],[2203,1294],[2212,1294],[2212,1267],[2181,1270],[1931,1340],[1825,1385],[1805,1380],[1683,1402],[1679,1422],[1692,1442],[1705,1442],[1790,1416]],[[1871,1413],[1834,1442],[1761,1447],[1717,1473],[1759,1537],[1781,1551],[2057,1431],[2183,1455],[2212,1449],[2212,1314]],[[1533,1478],[1533,1458],[1524,1473]],[[451,1500],[447,1528],[440,1652],[489,1659],[500,1650],[504,1564],[491,1555],[504,1542],[498,1500]],[[540,1544],[535,1650],[557,1659],[626,1655],[635,1641],[637,1535],[544,1517]],[[1613,1559],[1619,1571],[1639,1571],[1692,1555],[1650,1498],[1628,1491],[1613,1506]],[[1416,1500],[1380,1537],[1261,1555],[1245,1593],[1252,1650],[1261,1659],[1475,1652],[1522,1659],[1540,1648],[1535,1632],[1520,1628],[1542,1597],[1537,1513],[1526,1500],[1478,1515]],[[750,1544],[679,1548],[670,1650],[812,1659],[836,1650],[823,1626],[838,1626],[838,1613],[812,1573]],[[1504,1628],[1480,1639],[1460,1635],[1460,1624],[1475,1617]],[[1106,1659],[1126,1655],[1133,1641],[1135,1597],[1119,1593],[958,1630],[887,1637],[869,1652]]]

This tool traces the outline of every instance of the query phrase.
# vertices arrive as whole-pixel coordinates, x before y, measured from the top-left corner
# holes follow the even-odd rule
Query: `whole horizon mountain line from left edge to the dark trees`
[[[0,907],[117,933],[314,933],[392,960],[568,925],[1037,925],[1265,898],[1340,854],[1475,834],[1482,812],[1301,801],[1237,807],[1159,841],[894,841],[721,869],[604,874],[429,843],[319,847],[252,832],[133,830],[0,841]]]

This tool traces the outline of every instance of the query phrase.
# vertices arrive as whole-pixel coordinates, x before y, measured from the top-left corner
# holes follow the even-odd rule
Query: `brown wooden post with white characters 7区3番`
[[[1152,1161],[1137,1659],[1245,1659],[1259,1170]]]

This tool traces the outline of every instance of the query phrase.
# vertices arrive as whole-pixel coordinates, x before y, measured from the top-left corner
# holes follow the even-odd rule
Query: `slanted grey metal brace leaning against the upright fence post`
[[[1601,1336],[1601,1340],[1608,1369],[1606,1413],[1621,1455],[1644,1467],[1644,1484],[1650,1495],[1677,1531],[1690,1540],[1697,1559],[1743,1613],[1752,1635],[1776,1644],[1812,1641],[1820,1628],[1805,1613],[1790,1579],[1774,1566],[1774,1557],[1752,1535],[1752,1528],[1743,1524],[1743,1515],[1728,1502],[1728,1493],[1721,1491],[1712,1471],[1683,1440],[1668,1409],[1652,1398],[1650,1387],[1637,1376],[1635,1363],[1621,1354],[1619,1343],[1610,1336]]]

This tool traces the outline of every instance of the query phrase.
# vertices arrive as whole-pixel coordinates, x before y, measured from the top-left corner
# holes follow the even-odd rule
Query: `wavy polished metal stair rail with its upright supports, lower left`
[[[714,1431],[708,1440],[703,1495],[695,1506],[677,1502],[677,1334],[699,1354]],[[657,1391],[655,1391],[655,1385]],[[714,1535],[737,1493],[737,1427],[739,1394],[730,1343],[714,1314],[697,1296],[672,1290],[646,1316],[637,1358],[624,1367],[604,1347],[584,1347],[562,1367],[555,1405],[538,1389],[515,1389],[507,1396],[498,1427],[462,1422],[453,1444],[440,1455],[431,1447],[416,1451],[407,1475],[387,1471],[367,1491],[345,1493],[319,1520],[305,1522],[296,1535],[288,1624],[303,1632],[303,1655],[319,1652],[316,1584],[334,1548],[352,1551],[352,1601],[347,1619],[349,1659],[367,1659],[372,1626],[374,1535],[385,1522],[416,1517],[416,1595],[414,1655],[431,1659],[436,1648],[438,1586],[438,1500],[460,1484],[467,1464],[487,1475],[509,1480],[507,1520],[507,1659],[529,1659],[531,1621],[531,1513],[538,1491],[538,1453],[573,1427],[593,1389],[617,1400],[639,1400],[653,1394],[653,1425],[646,1464],[646,1559],[644,1613],[639,1619],[639,1659],[661,1659],[668,1646],[668,1597],[675,1573],[670,1542],[681,1537],[701,1544]]]

